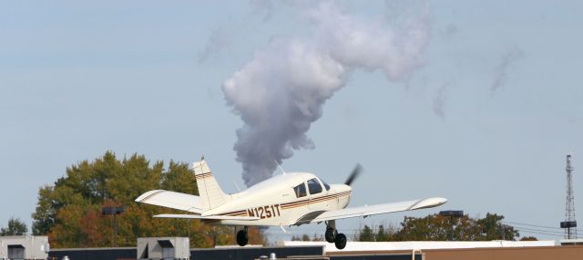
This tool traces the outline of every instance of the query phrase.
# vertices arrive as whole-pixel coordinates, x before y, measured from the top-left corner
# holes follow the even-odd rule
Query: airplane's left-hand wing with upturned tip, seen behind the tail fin
[[[180,192],[154,190],[141,194],[137,203],[147,203],[190,213],[202,213],[200,197]]]

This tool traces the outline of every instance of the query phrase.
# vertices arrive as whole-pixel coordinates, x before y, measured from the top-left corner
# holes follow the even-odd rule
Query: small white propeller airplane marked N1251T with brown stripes
[[[210,172],[207,162],[194,162],[199,196],[154,190],[136,202],[177,209],[189,214],[159,214],[154,217],[199,219],[205,224],[243,226],[237,244],[249,240],[249,226],[283,226],[324,223],[325,238],[336,248],[346,246],[346,236],[336,231],[335,220],[373,214],[413,211],[439,206],[445,198],[429,198],[401,203],[384,203],[346,208],[353,192],[350,184],[361,172],[360,165],[344,184],[327,184],[308,172],[287,172],[259,182],[243,192],[226,194]]]

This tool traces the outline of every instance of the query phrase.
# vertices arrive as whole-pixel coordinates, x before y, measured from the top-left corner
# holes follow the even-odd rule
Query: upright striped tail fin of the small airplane
[[[204,159],[194,162],[194,176],[199,186],[203,213],[227,202],[227,194],[220,189],[219,183],[212,176],[209,165]]]

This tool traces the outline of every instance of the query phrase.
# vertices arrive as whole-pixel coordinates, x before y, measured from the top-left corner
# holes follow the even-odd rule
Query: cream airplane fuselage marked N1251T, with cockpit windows
[[[220,220],[204,222],[227,225],[300,225],[325,211],[345,208],[352,189],[328,185],[308,172],[289,172],[259,182],[243,192],[230,194],[230,201],[203,215],[258,217],[257,221]]]

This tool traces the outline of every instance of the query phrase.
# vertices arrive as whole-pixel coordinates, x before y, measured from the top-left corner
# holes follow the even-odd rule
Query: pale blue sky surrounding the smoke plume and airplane
[[[232,180],[244,186],[232,150],[242,121],[221,85],[272,38],[314,36],[296,7],[270,3],[0,3],[0,225],[11,216],[30,224],[38,187],[108,150],[165,161],[204,154],[225,190],[236,191]],[[400,10],[338,5],[363,19]],[[449,199],[438,209],[343,221],[345,233],[446,209],[558,226],[567,153],[583,209],[581,2],[427,5],[424,66],[398,82],[353,71],[307,132],[315,148],[295,151],[283,168],[343,182],[362,163],[353,205]]]

